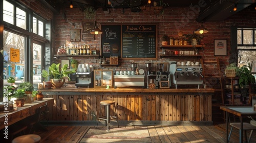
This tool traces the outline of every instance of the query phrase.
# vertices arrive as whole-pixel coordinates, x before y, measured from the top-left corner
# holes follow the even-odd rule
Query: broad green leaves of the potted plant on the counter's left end
[[[62,79],[67,77],[69,80],[69,74],[76,73],[74,69],[68,70],[68,64],[63,65],[63,67],[59,68],[60,63],[55,64],[53,63],[48,71],[42,69],[42,77],[47,78],[50,77],[51,79]]]

